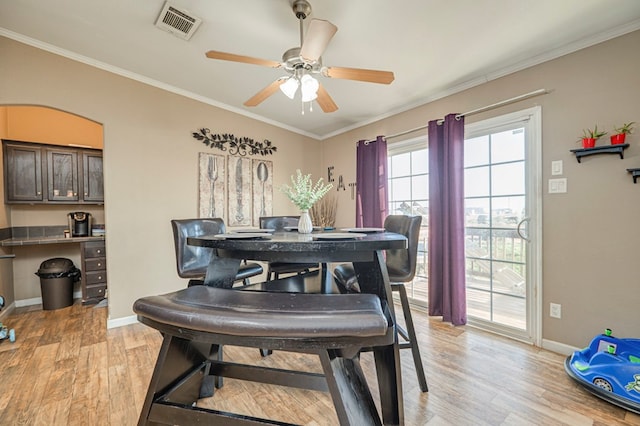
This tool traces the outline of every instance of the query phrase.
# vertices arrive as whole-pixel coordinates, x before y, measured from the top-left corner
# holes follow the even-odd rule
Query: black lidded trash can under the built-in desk
[[[80,279],[80,270],[70,259],[45,260],[36,275],[40,277],[42,309],[48,311],[73,305],[73,283]]]

